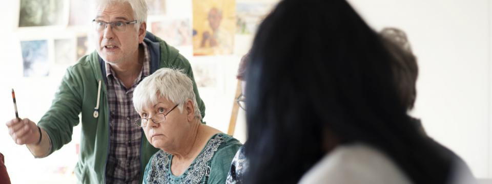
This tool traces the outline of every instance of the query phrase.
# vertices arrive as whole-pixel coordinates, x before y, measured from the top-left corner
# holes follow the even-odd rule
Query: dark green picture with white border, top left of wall
[[[68,13],[60,0],[20,0],[19,27],[66,25]]]

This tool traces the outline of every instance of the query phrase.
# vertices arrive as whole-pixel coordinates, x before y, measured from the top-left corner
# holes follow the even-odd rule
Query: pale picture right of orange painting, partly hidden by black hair
[[[237,3],[238,34],[255,34],[264,17],[273,9],[275,3]]]

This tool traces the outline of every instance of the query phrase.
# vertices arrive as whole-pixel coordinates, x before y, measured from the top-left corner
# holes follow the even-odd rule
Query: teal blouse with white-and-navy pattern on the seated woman
[[[234,137],[217,133],[208,141],[190,167],[175,176],[171,173],[173,155],[157,151],[149,160],[144,173],[146,183],[226,183],[232,158],[241,143]]]

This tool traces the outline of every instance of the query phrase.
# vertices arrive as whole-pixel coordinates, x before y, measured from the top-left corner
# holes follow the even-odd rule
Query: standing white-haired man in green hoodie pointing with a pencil
[[[193,81],[188,60],[165,41],[146,32],[145,0],[102,0],[93,26],[96,52],[68,68],[52,106],[36,125],[7,122],[16,144],[46,157],[71,141],[81,113],[80,156],[75,173],[83,183],[141,183],[143,169],[157,151],[134,125],[139,118],[132,97],[136,85],[158,68],[179,68]]]

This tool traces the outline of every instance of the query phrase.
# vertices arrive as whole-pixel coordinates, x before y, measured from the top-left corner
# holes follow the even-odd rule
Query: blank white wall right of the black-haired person
[[[420,69],[413,113],[477,177],[492,177],[489,1],[349,2],[374,29],[407,33]]]

